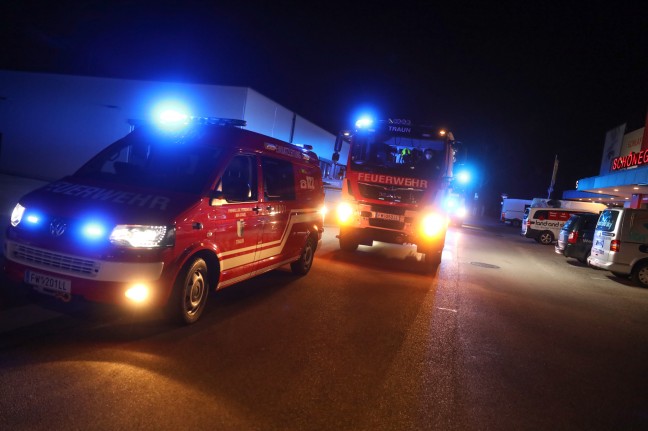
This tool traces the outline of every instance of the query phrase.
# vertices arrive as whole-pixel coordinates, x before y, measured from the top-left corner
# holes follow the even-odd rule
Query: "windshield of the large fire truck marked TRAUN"
[[[434,179],[445,171],[442,141],[356,135],[350,158],[351,169],[361,172]]]

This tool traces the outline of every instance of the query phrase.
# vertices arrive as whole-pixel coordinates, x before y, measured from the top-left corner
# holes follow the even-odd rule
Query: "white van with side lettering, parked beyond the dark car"
[[[533,238],[541,244],[552,244],[572,214],[584,212],[587,211],[545,207],[527,208],[524,212],[520,235]]]

